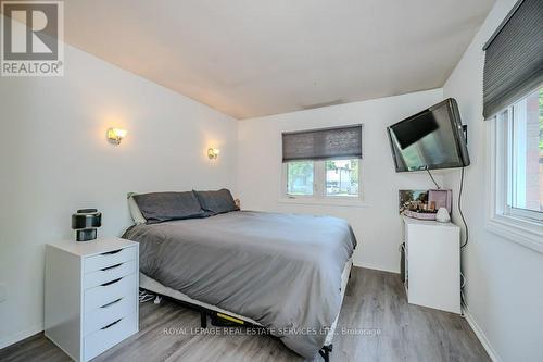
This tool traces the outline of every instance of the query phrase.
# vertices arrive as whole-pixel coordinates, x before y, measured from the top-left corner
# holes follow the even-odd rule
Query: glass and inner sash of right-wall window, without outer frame
[[[498,212],[543,222],[543,87],[497,117],[497,150],[503,150]]]

